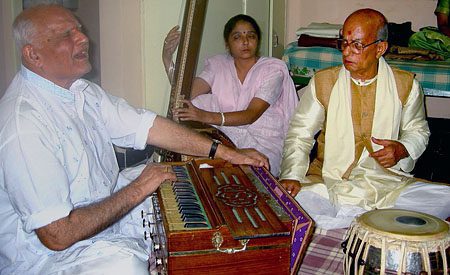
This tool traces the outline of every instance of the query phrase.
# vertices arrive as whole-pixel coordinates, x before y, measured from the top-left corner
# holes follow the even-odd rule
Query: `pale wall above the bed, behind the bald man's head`
[[[287,0],[286,40],[296,40],[295,31],[311,22],[344,23],[345,18],[361,8],[382,12],[389,22],[412,22],[417,31],[424,26],[436,26],[436,0]]]

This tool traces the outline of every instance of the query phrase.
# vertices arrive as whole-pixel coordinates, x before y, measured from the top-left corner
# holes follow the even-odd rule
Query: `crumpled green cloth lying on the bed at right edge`
[[[450,37],[442,34],[435,27],[421,28],[409,38],[409,47],[431,50],[450,59]]]

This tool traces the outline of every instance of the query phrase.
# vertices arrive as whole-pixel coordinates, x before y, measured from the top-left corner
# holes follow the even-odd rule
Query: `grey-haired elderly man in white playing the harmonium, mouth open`
[[[148,274],[142,220],[122,218],[176,176],[151,164],[120,184],[113,144],[268,167],[82,79],[89,40],[62,6],[25,9],[13,27],[22,67],[0,100],[0,274]]]

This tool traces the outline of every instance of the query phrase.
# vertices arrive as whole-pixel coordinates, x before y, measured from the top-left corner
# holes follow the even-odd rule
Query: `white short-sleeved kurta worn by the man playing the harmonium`
[[[66,90],[22,67],[0,101],[0,273],[49,274],[117,253],[148,257],[112,228],[60,252],[34,230],[110,196],[119,172],[113,144],[143,149],[155,117],[87,80]]]

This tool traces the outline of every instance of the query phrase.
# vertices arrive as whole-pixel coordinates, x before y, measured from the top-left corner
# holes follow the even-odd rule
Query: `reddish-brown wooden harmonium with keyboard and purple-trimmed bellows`
[[[313,222],[265,169],[170,162],[144,219],[159,274],[294,274]],[[145,218],[145,217],[144,217]]]

